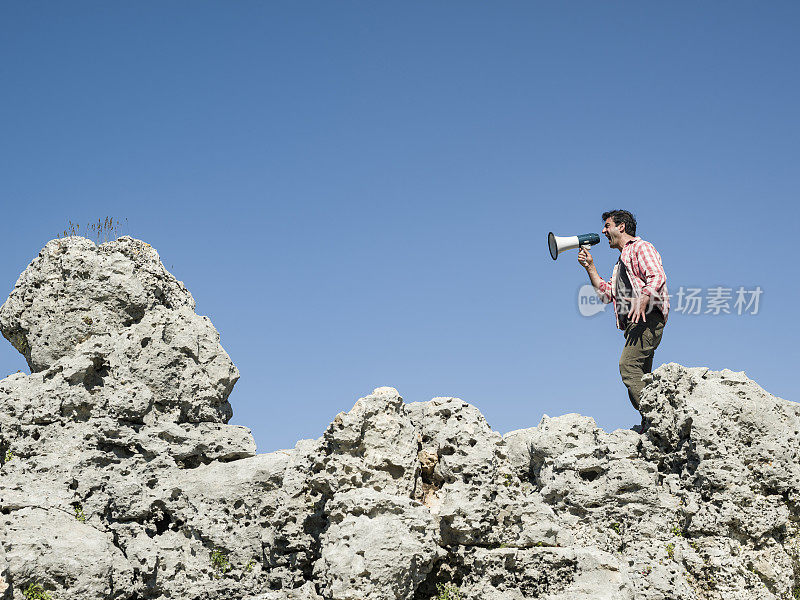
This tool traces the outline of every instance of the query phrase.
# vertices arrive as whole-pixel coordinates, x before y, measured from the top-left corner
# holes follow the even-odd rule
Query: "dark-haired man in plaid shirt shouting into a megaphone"
[[[603,213],[603,221],[602,233],[608,245],[620,251],[611,279],[600,278],[588,250],[578,252],[578,262],[589,274],[600,299],[614,303],[617,327],[625,333],[619,373],[631,404],[639,410],[642,376],[653,369],[653,355],[669,314],[667,276],[653,244],[636,237],[636,219],[631,213],[612,210]]]

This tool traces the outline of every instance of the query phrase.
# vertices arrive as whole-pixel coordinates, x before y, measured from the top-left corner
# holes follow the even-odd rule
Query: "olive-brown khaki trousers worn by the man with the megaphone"
[[[625,347],[619,357],[619,374],[628,388],[633,408],[639,410],[639,398],[644,382],[642,375],[653,370],[653,355],[664,333],[664,315],[653,308],[644,321],[628,323],[625,327]]]

